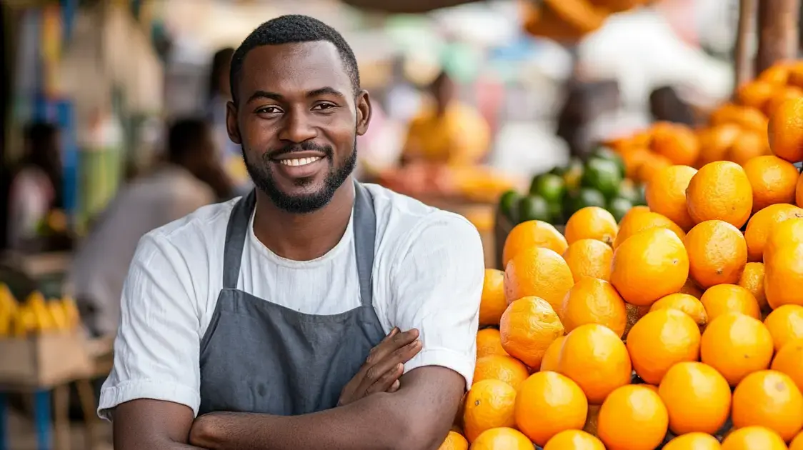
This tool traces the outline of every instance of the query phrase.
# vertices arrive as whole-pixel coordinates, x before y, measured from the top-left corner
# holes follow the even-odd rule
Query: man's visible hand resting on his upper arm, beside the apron
[[[398,391],[404,364],[421,348],[418,329],[405,332],[395,327],[391,329],[382,342],[371,349],[360,371],[343,387],[337,406],[347,405],[375,392]]]

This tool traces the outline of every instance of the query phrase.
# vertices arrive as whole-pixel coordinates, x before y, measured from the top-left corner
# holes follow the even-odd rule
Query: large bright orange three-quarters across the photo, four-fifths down
[[[616,333],[588,324],[566,336],[558,371],[577,382],[589,403],[600,404],[611,391],[630,383],[632,366],[625,343]]]

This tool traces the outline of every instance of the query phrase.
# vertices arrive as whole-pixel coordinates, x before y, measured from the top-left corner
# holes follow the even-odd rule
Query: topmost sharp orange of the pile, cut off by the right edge
[[[767,133],[775,156],[789,162],[803,161],[803,98],[786,100],[775,108]]]

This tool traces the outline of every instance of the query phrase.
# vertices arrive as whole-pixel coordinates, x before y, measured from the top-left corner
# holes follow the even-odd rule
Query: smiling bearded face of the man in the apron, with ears
[[[229,104],[232,141],[254,184],[293,213],[324,207],[357,163],[370,120],[368,93],[353,92],[336,47],[325,41],[249,51]]]

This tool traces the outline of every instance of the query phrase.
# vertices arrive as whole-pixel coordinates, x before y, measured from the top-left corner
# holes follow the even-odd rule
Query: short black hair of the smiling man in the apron
[[[307,43],[316,41],[327,41],[337,47],[340,53],[340,60],[352,82],[355,93],[360,90],[360,69],[357,67],[357,58],[354,56],[349,43],[346,43],[343,36],[334,28],[321,22],[316,18],[307,15],[289,14],[273,18],[263,23],[256,30],[243,40],[240,47],[234,51],[231,58],[230,85],[231,96],[234,103],[237,103],[237,84],[239,74],[243,69],[243,61],[248,52],[255,47],[263,45],[281,45],[283,43]]]

